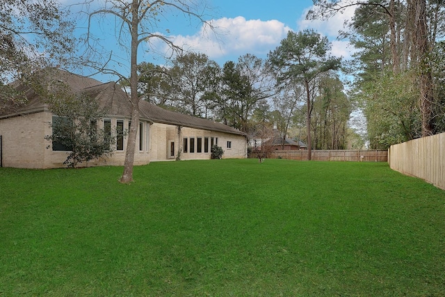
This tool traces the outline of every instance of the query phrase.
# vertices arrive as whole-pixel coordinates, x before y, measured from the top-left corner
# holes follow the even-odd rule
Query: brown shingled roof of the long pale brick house
[[[125,118],[131,117],[131,102],[129,101],[129,97],[115,82],[102,83],[95,79],[82,77],[81,75],[72,74],[56,68],[46,70],[44,72],[44,79],[49,88],[51,87],[52,81],[54,81],[54,83],[56,83],[56,81],[63,82],[66,83],[67,86],[70,86],[73,92],[84,93],[89,97],[96,99],[99,103],[99,108],[102,109],[106,115],[113,115],[116,117],[122,116]],[[49,110],[48,104],[44,103],[35,93],[29,92],[29,88],[26,89],[23,85],[18,85],[17,89],[26,91],[28,102],[26,105],[20,106],[20,108],[13,114],[0,114],[0,118],[9,118],[23,113]],[[223,123],[196,118],[192,115],[185,115],[174,111],[167,111],[144,100],[140,100],[139,109],[140,118],[152,122],[245,135],[238,129],[234,129]]]

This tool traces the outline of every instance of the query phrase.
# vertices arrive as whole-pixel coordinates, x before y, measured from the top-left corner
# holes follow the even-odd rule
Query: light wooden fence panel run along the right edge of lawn
[[[445,190],[445,133],[391,145],[389,166]]]

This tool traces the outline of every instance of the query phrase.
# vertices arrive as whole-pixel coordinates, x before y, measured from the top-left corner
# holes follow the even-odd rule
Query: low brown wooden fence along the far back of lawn
[[[307,160],[307,150],[275,150],[270,158]],[[312,150],[314,161],[372,161],[387,162],[387,150]]]

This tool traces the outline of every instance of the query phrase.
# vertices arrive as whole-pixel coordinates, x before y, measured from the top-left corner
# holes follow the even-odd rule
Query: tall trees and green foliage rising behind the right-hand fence
[[[342,38],[357,53],[353,94],[362,104],[371,147],[445,131],[440,67],[445,3],[429,0],[314,1],[309,18],[328,18],[355,6]]]

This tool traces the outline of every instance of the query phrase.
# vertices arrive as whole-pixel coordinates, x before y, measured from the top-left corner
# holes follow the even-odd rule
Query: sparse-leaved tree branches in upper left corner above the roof
[[[26,102],[24,94],[8,84],[11,81],[31,83],[35,70],[50,63],[67,63],[66,57],[74,49],[72,29],[69,12],[63,11],[58,1],[0,1],[1,106],[12,109]],[[6,108],[3,111],[7,112]]]

